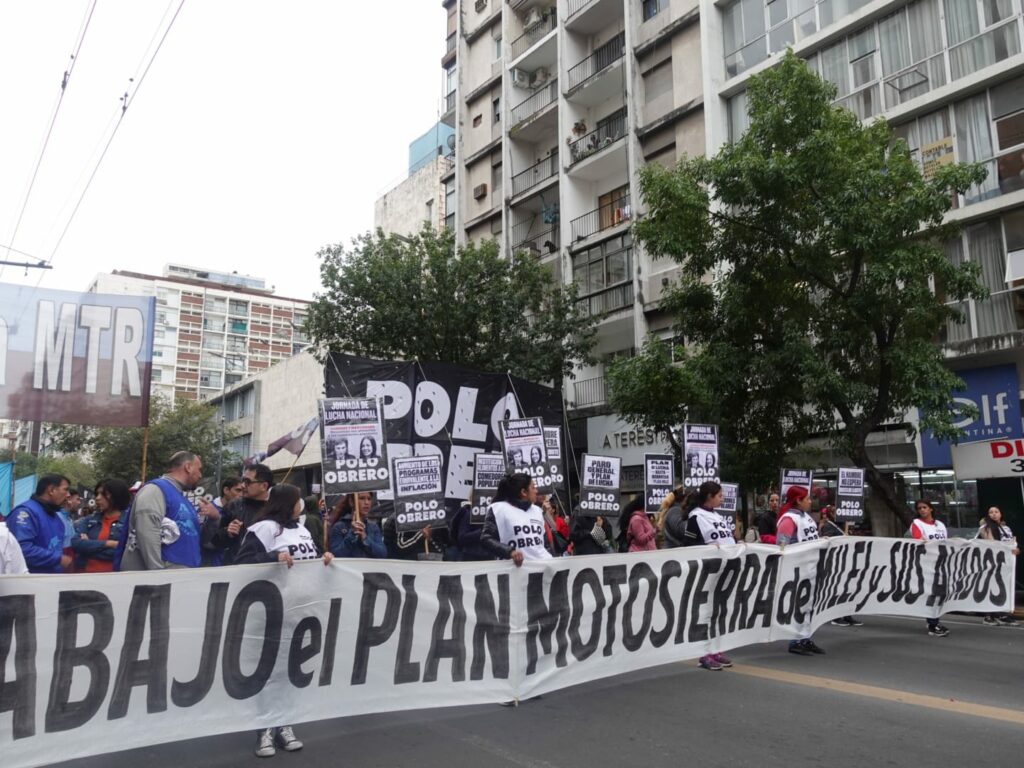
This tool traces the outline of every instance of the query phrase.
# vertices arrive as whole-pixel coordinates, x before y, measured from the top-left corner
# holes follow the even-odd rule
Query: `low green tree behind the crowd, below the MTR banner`
[[[178,451],[191,451],[203,460],[203,473],[212,476],[217,465],[220,422],[216,410],[194,400],[178,399],[173,406],[163,397],[150,403],[150,438],[146,476],[159,475]],[[224,440],[233,437],[229,431]],[[142,463],[141,427],[100,427],[89,436],[88,445],[97,477],[119,477],[131,483],[139,479]],[[223,452],[224,467],[238,469],[239,458]]]

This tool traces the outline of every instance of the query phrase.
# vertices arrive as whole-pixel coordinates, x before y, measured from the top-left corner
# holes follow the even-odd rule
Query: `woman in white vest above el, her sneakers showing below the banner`
[[[302,493],[287,483],[270,488],[269,499],[255,522],[247,529],[234,556],[236,565],[283,562],[291,568],[296,560],[315,560],[319,550],[305,525],[299,524],[302,514]],[[334,555],[324,553],[324,564],[330,565]],[[256,757],[269,758],[276,746],[285,752],[302,749],[290,725],[264,728],[256,734]]]

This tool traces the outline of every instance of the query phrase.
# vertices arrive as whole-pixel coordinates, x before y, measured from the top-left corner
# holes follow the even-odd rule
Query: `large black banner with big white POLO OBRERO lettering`
[[[505,374],[445,362],[384,362],[332,354],[325,366],[328,397],[380,397],[388,457],[436,454],[444,498],[462,502],[473,488],[473,456],[501,450],[499,423],[537,416],[563,421],[561,392]],[[391,494],[377,495],[382,512]]]

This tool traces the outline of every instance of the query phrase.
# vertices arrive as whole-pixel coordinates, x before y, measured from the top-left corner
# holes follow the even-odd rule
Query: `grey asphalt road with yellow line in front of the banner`
[[[75,768],[800,768],[1024,764],[1024,625],[867,616],[822,628],[823,656],[784,643],[568,688],[518,708],[464,707],[296,727],[301,752],[253,757],[252,733],[105,755]],[[2,762],[2,761],[0,761]]]

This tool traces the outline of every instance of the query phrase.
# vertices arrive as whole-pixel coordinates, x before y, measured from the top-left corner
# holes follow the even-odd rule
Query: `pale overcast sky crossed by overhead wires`
[[[0,258],[52,255],[45,288],[173,261],[310,298],[316,251],[373,226],[437,120],[440,0],[185,0],[71,219],[179,2],[96,2],[15,237],[90,0],[0,0]]]

